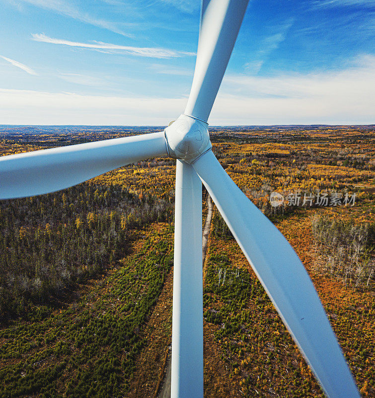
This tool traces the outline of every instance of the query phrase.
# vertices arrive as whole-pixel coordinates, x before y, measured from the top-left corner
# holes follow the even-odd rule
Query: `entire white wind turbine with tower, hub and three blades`
[[[0,157],[0,199],[46,194],[151,157],[177,159],[172,398],[203,397],[202,184],[330,398],[360,397],[314,286],[279,230],[213,154],[207,119],[248,0],[203,0],[184,113],[164,131]]]

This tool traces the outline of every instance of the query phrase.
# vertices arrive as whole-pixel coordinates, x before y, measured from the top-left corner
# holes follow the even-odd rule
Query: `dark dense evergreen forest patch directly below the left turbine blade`
[[[130,228],[172,217],[170,201],[113,185],[0,201],[0,320],[105,271],[127,254]]]

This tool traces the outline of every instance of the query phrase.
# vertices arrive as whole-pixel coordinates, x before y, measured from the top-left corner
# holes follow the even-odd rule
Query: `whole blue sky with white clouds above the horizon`
[[[199,0],[0,0],[0,124],[165,125]],[[209,123],[369,124],[374,0],[250,0]]]

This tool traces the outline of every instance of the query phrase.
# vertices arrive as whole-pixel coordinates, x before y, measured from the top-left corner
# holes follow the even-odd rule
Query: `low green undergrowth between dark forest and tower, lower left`
[[[0,330],[0,398],[112,398],[129,388],[147,321],[172,265],[172,230],[153,232],[68,309]]]

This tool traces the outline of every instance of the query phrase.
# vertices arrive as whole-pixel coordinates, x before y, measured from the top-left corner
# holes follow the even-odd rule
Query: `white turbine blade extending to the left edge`
[[[59,191],[154,156],[167,156],[163,131],[2,156],[0,199]]]

